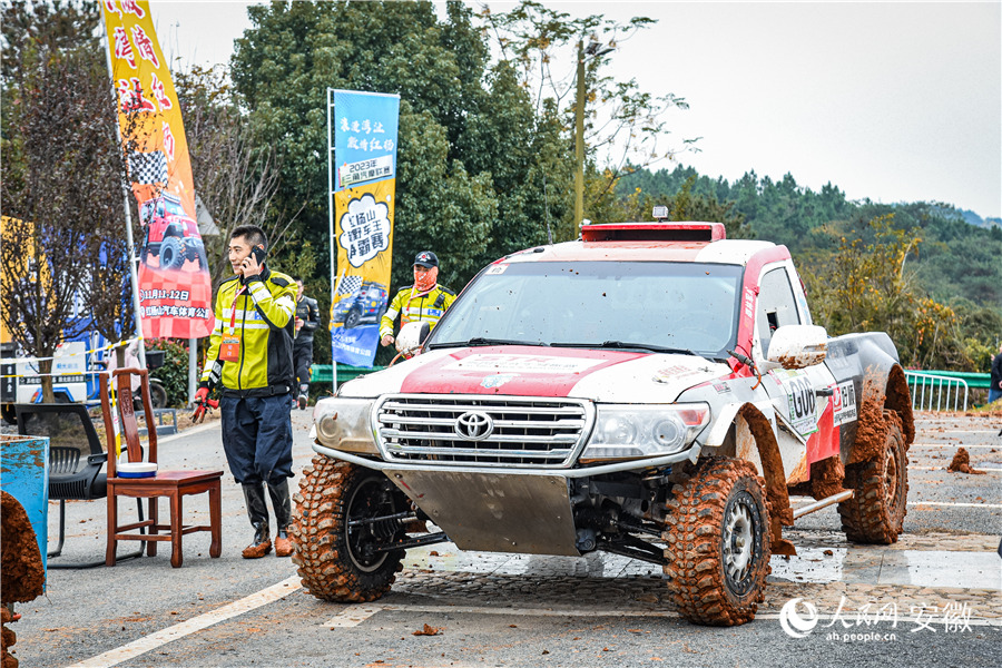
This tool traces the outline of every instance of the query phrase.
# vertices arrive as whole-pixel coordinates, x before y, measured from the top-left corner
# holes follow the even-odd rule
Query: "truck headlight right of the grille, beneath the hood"
[[[692,443],[709,422],[704,403],[596,404],[595,429],[582,461],[674,454]]]

